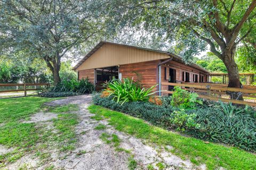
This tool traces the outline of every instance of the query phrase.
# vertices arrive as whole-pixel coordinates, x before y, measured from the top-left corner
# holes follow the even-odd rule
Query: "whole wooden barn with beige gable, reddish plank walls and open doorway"
[[[96,88],[111,79],[133,78],[145,87],[162,82],[207,82],[210,72],[181,57],[165,52],[101,41],[73,68],[78,79],[88,78]],[[172,87],[169,87],[172,88]]]

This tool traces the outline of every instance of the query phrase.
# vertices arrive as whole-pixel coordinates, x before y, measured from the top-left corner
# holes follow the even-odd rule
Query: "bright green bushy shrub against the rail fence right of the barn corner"
[[[172,106],[190,109],[194,108],[196,104],[203,104],[202,100],[198,99],[196,93],[190,93],[187,90],[181,89],[179,86],[175,86],[174,90],[172,94]]]

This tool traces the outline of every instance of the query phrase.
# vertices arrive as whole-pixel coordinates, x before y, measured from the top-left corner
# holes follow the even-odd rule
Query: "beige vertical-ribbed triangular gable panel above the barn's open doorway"
[[[94,52],[92,56],[87,58],[87,60],[77,67],[76,70],[96,69],[108,66],[161,60],[165,58],[170,58],[170,56],[150,50],[105,43]]]

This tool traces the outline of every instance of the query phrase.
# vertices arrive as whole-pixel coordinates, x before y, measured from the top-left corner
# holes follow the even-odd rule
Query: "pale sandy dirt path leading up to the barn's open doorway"
[[[133,155],[138,163],[137,169],[147,169],[150,164],[156,168],[156,164],[159,163],[167,166],[166,169],[204,169],[204,166],[196,168],[188,160],[182,160],[162,148],[145,144],[145,141],[115,130],[108,125],[107,120],[93,120],[91,118],[93,114],[87,111],[87,107],[91,104],[91,96],[69,97],[49,103],[49,105],[63,104],[78,104],[81,122],[77,125],[76,130],[78,134],[76,150],[65,161],[57,161],[56,167],[64,167],[65,169],[128,169],[129,157]],[[94,128],[99,124],[107,125],[107,129],[95,130]],[[120,147],[131,152],[116,151],[115,147],[100,139],[102,133],[116,134],[121,139]],[[171,146],[169,147],[171,148]],[[81,151],[86,153],[77,157],[77,153]]]

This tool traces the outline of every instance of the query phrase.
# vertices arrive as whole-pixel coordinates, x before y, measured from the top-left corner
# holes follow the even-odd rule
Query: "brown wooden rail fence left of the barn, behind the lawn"
[[[34,88],[28,89],[27,86],[34,86]],[[37,88],[37,86],[40,86],[40,87]],[[41,88],[42,86],[49,88],[50,83],[0,84],[0,87],[17,87],[17,89],[15,89],[15,90],[0,90],[0,93],[24,91],[24,96],[27,96],[27,91],[42,90],[42,88]],[[19,89],[18,87],[22,87],[22,88]]]

